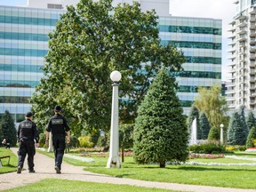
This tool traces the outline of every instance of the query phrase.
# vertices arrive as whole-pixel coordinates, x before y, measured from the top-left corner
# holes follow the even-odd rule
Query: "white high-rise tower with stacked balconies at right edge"
[[[228,108],[256,108],[256,0],[236,0],[230,23]]]

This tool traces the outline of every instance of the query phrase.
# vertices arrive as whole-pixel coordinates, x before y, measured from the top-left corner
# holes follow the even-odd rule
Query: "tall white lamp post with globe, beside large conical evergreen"
[[[111,127],[110,127],[110,148],[107,168],[120,168],[119,160],[119,132],[118,132],[118,82],[121,80],[121,73],[113,71],[110,78],[113,81],[112,109],[111,109]]]

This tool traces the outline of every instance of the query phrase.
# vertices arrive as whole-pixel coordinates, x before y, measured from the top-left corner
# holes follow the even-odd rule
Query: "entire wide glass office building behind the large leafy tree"
[[[44,76],[48,33],[68,4],[78,0],[28,0],[22,7],[0,6],[0,115],[9,110],[16,122],[31,108],[28,99]],[[132,3],[114,0],[113,4]],[[186,56],[184,71],[172,73],[178,96],[188,109],[197,87],[220,84],[221,20],[173,17],[169,0],[140,0],[142,11],[156,9],[162,44],[176,44]]]

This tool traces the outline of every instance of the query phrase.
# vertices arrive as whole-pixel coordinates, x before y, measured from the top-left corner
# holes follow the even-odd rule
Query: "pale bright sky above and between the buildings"
[[[42,0],[44,1],[44,0]],[[172,16],[203,17],[222,20],[222,80],[227,80],[228,23],[235,16],[235,0],[170,0]],[[0,5],[22,5],[27,0],[0,0]]]

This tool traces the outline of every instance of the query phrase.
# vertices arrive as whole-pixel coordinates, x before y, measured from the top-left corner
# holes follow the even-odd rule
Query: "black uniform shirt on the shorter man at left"
[[[36,124],[32,122],[30,119],[26,119],[20,122],[17,131],[17,136],[19,141],[36,140],[36,143],[38,143],[39,132],[36,128]]]

